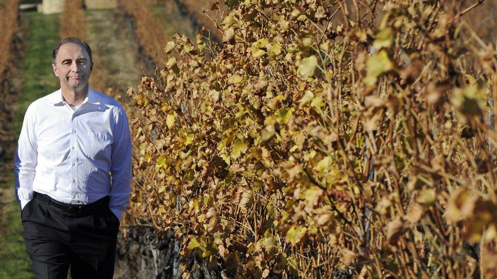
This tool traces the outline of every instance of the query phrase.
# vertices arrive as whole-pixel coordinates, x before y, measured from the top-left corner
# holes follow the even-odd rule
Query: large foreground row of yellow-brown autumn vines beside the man
[[[128,90],[131,210],[174,230],[184,276],[496,276],[481,1],[226,3],[215,53],[136,22],[163,56]]]

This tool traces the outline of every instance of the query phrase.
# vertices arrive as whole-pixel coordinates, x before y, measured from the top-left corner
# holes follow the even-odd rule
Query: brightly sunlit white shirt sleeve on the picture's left
[[[15,193],[22,210],[33,199],[33,180],[38,164],[38,145],[35,134],[35,114],[31,104],[24,115],[21,133],[14,154]]]

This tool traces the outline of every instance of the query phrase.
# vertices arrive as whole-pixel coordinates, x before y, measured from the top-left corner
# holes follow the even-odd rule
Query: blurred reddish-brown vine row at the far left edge
[[[0,143],[8,140],[7,124],[10,122],[12,102],[10,84],[12,83],[12,63],[14,59],[15,37],[19,29],[18,24],[18,0],[7,0],[0,2]],[[0,158],[3,156],[0,144]]]

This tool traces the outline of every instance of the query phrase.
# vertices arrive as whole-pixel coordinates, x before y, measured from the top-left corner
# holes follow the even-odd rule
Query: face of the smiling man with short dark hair
[[[53,73],[61,81],[61,88],[74,90],[88,85],[93,62],[85,48],[65,43],[59,48],[52,67]]]

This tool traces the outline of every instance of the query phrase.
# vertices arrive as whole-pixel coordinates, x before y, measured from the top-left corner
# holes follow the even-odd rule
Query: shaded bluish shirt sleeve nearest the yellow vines
[[[119,108],[117,113],[113,137],[109,208],[121,220],[123,211],[129,204],[132,178],[131,135],[128,118],[123,108]]]

